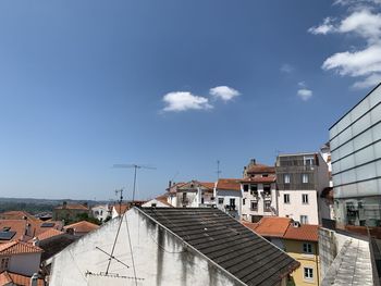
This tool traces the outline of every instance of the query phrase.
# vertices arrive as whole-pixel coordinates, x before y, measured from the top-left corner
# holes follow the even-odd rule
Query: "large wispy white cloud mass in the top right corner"
[[[365,4],[381,3],[381,0],[340,0],[336,4],[357,7],[341,21],[324,18],[319,26],[308,29],[314,35],[348,34],[362,38],[366,47],[355,50],[336,52],[325,59],[324,71],[334,71],[342,76],[359,77],[353,87],[368,88],[378,83],[381,74],[381,14],[372,12]],[[359,5],[361,3],[361,5]],[[336,22],[336,23],[334,23]]]

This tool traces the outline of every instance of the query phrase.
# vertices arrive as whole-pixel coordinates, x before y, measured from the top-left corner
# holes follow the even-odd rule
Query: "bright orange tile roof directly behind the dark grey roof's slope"
[[[284,236],[284,233],[287,231],[291,223],[291,219],[279,216],[265,216],[256,225],[243,222],[246,227],[261,236],[280,238]]]

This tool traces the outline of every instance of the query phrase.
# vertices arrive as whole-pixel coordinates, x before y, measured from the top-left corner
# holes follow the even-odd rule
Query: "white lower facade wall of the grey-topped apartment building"
[[[290,203],[284,203],[284,194],[290,195]],[[302,203],[302,195],[308,194],[308,204]],[[279,216],[300,221],[300,215],[308,216],[308,224],[319,224],[318,194],[316,190],[279,190]]]

